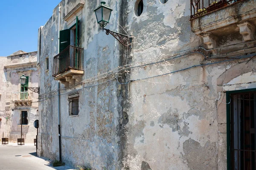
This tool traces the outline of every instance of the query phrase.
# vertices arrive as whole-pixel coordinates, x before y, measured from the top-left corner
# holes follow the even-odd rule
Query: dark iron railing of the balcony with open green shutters
[[[84,48],[69,45],[53,58],[52,76],[56,77],[69,70],[83,70]]]

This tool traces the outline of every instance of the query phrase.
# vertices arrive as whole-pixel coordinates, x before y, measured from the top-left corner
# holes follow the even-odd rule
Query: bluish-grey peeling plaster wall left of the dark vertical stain
[[[79,44],[84,48],[84,75],[82,80],[91,79],[119,65],[119,44],[111,35],[106,35],[95,22],[93,9],[99,1],[63,0],[61,6],[61,30],[69,28],[62,20],[79,2],[84,3],[80,22]],[[108,1],[111,8],[118,4]],[[118,14],[116,14],[116,17]],[[116,30],[111,19],[109,28]],[[38,39],[40,39],[39,30]],[[40,40],[39,40],[40,42]],[[41,56],[38,58],[40,72],[40,118],[38,153],[50,159],[59,159],[58,146],[58,81],[52,77],[53,57],[58,54],[58,6],[52,17],[41,27]],[[44,71],[45,58],[49,57],[49,71]],[[61,84],[61,147],[62,160],[76,167],[90,166],[96,169],[106,167],[118,170],[119,99],[114,77],[65,89]],[[106,83],[104,83],[106,82]],[[103,83],[103,84],[102,84]],[[99,85],[97,85],[99,84]],[[90,87],[86,87],[90,86]],[[54,93],[55,92],[55,93]],[[52,94],[52,95],[47,95]],[[79,94],[79,116],[69,116],[68,96]]]

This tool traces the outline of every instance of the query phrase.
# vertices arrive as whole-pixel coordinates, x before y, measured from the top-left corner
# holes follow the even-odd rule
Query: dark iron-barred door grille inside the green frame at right
[[[256,92],[230,99],[231,169],[256,170]]]

